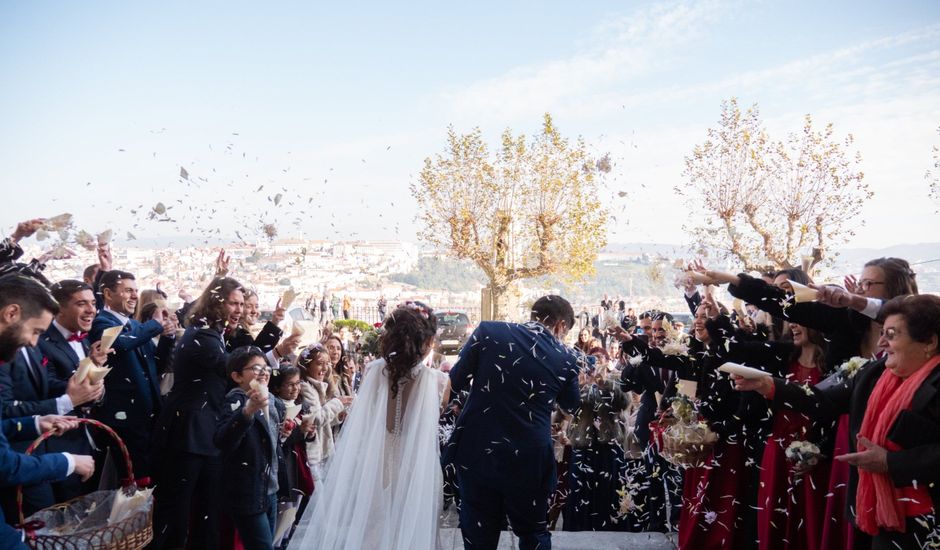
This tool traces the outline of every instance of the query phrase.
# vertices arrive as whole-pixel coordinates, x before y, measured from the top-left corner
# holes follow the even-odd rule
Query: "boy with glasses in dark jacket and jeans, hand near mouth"
[[[271,368],[256,347],[236,348],[227,370],[235,388],[225,396],[215,432],[222,451],[222,496],[245,550],[271,550],[277,514],[279,418],[268,397]]]

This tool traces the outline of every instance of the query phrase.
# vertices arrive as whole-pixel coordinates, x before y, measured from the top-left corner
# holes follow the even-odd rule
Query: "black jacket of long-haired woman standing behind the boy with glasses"
[[[212,439],[230,380],[222,334],[209,327],[187,328],[173,361],[173,389],[157,422],[154,448],[217,456]]]

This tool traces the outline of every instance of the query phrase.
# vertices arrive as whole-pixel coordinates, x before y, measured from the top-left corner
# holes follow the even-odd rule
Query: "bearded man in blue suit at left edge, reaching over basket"
[[[0,368],[9,368],[12,360],[23,346],[35,346],[39,335],[52,321],[59,310],[58,304],[41,284],[21,275],[0,277]],[[57,415],[33,418],[10,418],[2,422],[0,432],[0,486],[12,491],[21,484],[65,479],[73,472],[88,479],[95,471],[95,462],[90,456],[69,453],[51,453],[42,456],[26,456],[10,449],[7,437],[35,439],[46,430],[62,433],[76,427],[74,419]],[[4,519],[4,518],[0,518]],[[0,547],[27,548],[22,534],[0,522]]]

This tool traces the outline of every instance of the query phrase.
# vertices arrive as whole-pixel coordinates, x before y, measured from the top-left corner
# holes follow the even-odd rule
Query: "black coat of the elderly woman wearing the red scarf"
[[[855,452],[855,439],[862,427],[868,400],[885,371],[885,360],[871,361],[854,377],[840,380],[830,377],[807,394],[802,386],[775,378],[775,408],[790,408],[811,416],[849,415],[849,448]],[[888,432],[888,439],[901,447],[888,452],[888,475],[896,487],[927,487],[934,506],[940,503],[940,367],[924,380],[914,393],[910,410],[901,411]],[[849,471],[846,498],[855,507],[858,470]]]

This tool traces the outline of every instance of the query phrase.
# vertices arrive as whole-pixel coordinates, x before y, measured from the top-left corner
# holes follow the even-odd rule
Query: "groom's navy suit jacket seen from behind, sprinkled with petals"
[[[501,486],[539,489],[555,471],[555,404],[580,405],[583,355],[538,323],[480,323],[450,371],[455,393],[470,388],[442,460]]]

